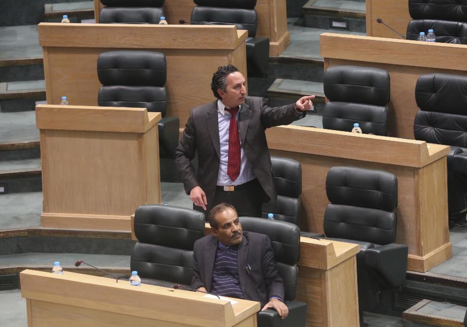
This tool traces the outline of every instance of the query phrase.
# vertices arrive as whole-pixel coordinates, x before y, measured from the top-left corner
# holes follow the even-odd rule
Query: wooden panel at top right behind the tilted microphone
[[[403,36],[412,20],[407,0],[366,0],[366,35],[378,38],[400,38],[376,20],[380,18]],[[418,55],[418,54],[417,54]]]

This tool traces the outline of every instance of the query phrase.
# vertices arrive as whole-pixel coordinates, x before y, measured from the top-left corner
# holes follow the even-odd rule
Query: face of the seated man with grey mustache
[[[227,208],[216,214],[217,229],[214,228],[214,236],[220,243],[225,245],[239,244],[243,239],[242,225],[238,220],[237,213]]]

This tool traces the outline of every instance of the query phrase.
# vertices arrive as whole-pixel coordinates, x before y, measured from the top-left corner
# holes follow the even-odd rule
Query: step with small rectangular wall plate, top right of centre
[[[302,11],[307,27],[366,32],[364,1],[309,0]]]

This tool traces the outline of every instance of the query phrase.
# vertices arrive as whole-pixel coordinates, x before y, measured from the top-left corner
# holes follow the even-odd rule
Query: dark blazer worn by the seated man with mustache
[[[204,236],[195,242],[193,289],[204,286],[208,292],[211,291],[217,244],[214,235]],[[263,308],[272,296],[284,299],[284,283],[267,235],[244,231],[243,240],[238,245],[237,260],[245,300],[261,302]],[[251,267],[251,275],[247,273],[247,265]]]

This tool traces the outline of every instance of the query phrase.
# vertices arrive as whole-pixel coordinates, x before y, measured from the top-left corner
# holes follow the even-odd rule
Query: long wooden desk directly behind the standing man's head
[[[217,67],[234,64],[246,76],[247,31],[235,26],[40,23],[48,104],[97,105],[97,58],[110,50],[154,50],[167,60],[167,115],[180,118],[214,100]]]

